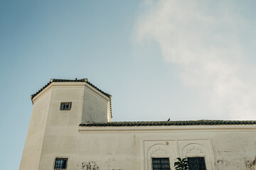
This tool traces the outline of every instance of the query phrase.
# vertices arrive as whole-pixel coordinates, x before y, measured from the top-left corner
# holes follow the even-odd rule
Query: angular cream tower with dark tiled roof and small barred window
[[[112,119],[111,95],[87,79],[50,79],[31,100],[33,110],[20,170],[43,170],[48,162],[53,166],[54,157],[72,155],[78,149],[78,125]]]

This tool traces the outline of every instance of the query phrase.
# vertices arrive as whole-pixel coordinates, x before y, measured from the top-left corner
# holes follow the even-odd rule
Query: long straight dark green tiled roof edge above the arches
[[[256,125],[256,120],[186,120],[148,122],[84,123],[80,126],[182,126],[182,125]]]

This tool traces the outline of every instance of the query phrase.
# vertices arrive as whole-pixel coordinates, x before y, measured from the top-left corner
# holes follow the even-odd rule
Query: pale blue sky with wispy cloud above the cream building
[[[112,94],[113,121],[255,120],[255,1],[0,1],[0,169],[51,78]]]

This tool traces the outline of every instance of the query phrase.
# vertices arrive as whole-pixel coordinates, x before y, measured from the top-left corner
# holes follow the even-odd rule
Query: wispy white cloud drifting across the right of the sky
[[[181,67],[184,86],[207,98],[216,118],[256,119],[255,78],[242,62],[245,56],[239,41],[247,21],[232,3],[212,5],[209,1],[145,1],[137,40],[156,41],[164,60]]]

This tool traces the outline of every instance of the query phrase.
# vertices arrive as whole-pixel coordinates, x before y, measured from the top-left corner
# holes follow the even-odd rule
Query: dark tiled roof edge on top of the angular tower
[[[31,95],[31,100],[33,100],[33,98],[39,94],[41,91],[43,91],[43,89],[45,89],[49,84],[51,84],[52,82],[85,82],[87,84],[89,84],[90,86],[92,86],[93,88],[97,89],[97,91],[100,91],[100,93],[104,94],[105,96],[107,96],[108,98],[110,98],[110,114],[111,114],[111,118],[112,118],[112,107],[111,107],[111,95],[105,93],[104,91],[100,90],[97,88],[97,86],[91,84],[88,79],[50,79],[50,81],[48,82],[48,84],[46,84],[46,86],[43,86],[38,92],[36,92],[36,94],[32,94]]]

